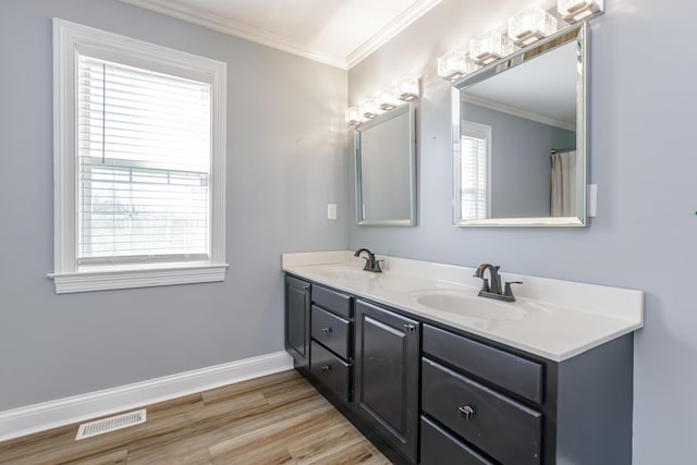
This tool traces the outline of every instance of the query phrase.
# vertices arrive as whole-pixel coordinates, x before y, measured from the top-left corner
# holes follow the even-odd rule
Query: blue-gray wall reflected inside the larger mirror
[[[492,127],[491,217],[549,217],[549,151],[575,146],[576,133],[466,102],[460,115]]]

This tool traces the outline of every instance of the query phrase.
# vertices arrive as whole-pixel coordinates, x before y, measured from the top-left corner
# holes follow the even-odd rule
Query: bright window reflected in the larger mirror
[[[491,126],[462,122],[460,189],[463,219],[491,217]]]

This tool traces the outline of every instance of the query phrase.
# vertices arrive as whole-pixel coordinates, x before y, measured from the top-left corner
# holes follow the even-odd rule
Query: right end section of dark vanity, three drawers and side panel
[[[632,463],[632,334],[554,363],[423,332],[421,464]]]

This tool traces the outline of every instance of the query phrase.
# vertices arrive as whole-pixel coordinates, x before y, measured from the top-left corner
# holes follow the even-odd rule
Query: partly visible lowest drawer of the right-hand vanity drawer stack
[[[493,465],[427,417],[421,417],[421,465]]]

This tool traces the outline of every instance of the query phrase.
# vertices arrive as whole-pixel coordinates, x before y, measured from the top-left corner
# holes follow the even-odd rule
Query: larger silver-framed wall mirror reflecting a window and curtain
[[[588,28],[453,83],[453,222],[586,225]]]

